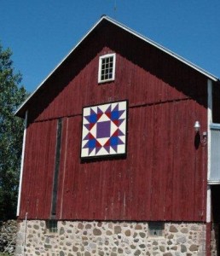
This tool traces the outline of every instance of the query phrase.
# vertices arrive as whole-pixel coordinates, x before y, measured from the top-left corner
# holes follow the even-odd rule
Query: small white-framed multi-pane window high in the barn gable
[[[104,83],[114,80],[115,54],[102,55],[99,58],[98,82]]]

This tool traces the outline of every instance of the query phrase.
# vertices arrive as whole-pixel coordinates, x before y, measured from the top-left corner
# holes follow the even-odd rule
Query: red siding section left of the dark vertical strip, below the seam
[[[55,168],[56,120],[27,127],[20,216],[49,218]]]

